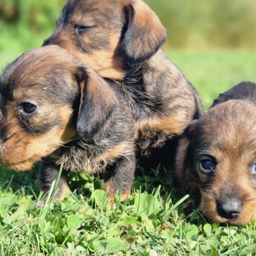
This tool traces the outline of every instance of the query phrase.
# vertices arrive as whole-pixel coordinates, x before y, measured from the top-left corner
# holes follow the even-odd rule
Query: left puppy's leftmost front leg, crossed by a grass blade
[[[49,158],[44,158],[42,160],[39,168],[38,178],[40,188],[44,193],[46,193],[49,190],[54,179],[57,180],[59,169],[60,166],[54,164]],[[61,175],[58,185],[58,192],[54,200],[58,201],[69,195],[70,189],[66,183],[65,177]]]

